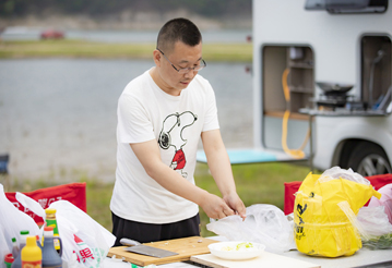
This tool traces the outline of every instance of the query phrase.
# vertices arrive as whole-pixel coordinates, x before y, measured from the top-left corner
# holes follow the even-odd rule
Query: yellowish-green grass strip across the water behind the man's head
[[[94,58],[151,59],[155,44],[106,44],[84,40],[1,41],[0,59],[19,58]],[[207,61],[250,62],[251,44],[204,44]]]

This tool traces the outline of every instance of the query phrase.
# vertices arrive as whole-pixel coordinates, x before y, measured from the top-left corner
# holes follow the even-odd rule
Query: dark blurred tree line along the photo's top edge
[[[168,12],[185,9],[206,17],[251,14],[252,0],[0,0],[0,16],[46,12],[100,16],[123,10]]]

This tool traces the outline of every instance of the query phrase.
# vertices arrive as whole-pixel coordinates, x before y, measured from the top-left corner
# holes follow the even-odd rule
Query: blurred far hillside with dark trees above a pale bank
[[[0,27],[156,29],[186,16],[200,28],[250,28],[251,0],[0,0]]]

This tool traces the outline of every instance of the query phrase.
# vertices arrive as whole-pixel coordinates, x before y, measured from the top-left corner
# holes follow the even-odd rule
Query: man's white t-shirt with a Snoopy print
[[[215,95],[200,75],[180,96],[168,95],[149,71],[131,81],[118,101],[117,170],[110,209],[139,222],[177,222],[195,216],[198,205],[149,176],[129,144],[155,139],[162,161],[194,184],[200,135],[219,127]]]

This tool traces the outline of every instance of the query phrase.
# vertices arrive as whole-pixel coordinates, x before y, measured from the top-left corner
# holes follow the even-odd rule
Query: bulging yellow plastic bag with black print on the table
[[[337,206],[348,202],[355,215],[380,193],[371,185],[345,179],[325,179],[311,172],[299,187],[294,209],[297,249],[313,256],[349,256],[361,247],[360,236]]]

